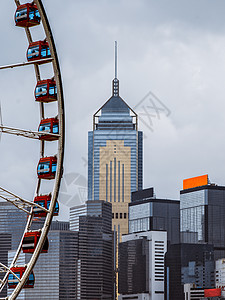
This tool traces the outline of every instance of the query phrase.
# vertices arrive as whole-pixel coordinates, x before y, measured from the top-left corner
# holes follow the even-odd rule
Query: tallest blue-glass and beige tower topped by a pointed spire
[[[88,200],[112,204],[113,230],[128,233],[131,192],[142,189],[142,132],[138,116],[119,96],[117,42],[112,96],[93,116],[88,133]]]

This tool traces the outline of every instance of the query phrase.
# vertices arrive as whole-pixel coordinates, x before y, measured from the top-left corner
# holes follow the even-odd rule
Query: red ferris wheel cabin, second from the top
[[[28,61],[41,60],[49,57],[51,57],[51,53],[48,42],[46,40],[30,43],[27,49]]]

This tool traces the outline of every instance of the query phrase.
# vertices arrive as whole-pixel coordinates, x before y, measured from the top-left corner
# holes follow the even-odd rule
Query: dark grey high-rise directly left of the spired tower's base
[[[71,208],[70,226],[74,229],[79,226],[77,299],[112,300],[114,236],[111,203],[92,200],[82,207]]]

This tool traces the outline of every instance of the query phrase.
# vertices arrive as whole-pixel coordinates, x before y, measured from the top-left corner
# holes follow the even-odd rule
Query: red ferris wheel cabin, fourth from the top
[[[59,134],[59,120],[58,120],[58,118],[56,117],[56,118],[49,118],[49,119],[41,120],[41,123],[40,123],[39,128],[38,128],[38,132],[43,133],[39,137],[40,140],[45,140],[45,141],[58,140],[59,139],[58,136],[44,134],[45,132]]]

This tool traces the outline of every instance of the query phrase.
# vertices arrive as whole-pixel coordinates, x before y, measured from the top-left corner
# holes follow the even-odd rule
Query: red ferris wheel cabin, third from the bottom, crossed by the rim
[[[39,204],[40,206],[49,209],[50,207],[50,203],[51,203],[51,194],[49,195],[42,195],[42,196],[36,196],[34,198],[34,203]],[[33,212],[34,212],[34,217],[46,217],[47,212],[43,211],[42,209],[40,209],[39,207],[34,207],[33,208]],[[59,203],[58,201],[56,201],[56,205],[55,205],[55,210],[53,213],[53,216],[58,216],[59,215]]]

